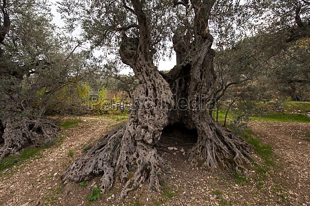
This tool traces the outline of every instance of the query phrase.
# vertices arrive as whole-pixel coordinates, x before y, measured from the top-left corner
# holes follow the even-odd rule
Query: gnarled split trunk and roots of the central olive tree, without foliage
[[[189,41],[182,41],[182,34],[186,32],[179,30],[178,37],[174,38],[176,54],[180,55],[178,65],[168,74],[160,74],[152,62],[143,6],[141,1],[132,0],[139,36],[130,38],[124,32],[120,48],[123,63],[130,65],[140,81],[134,93],[132,112],[126,125],[116,127],[74,161],[63,174],[63,181],[80,182],[92,174],[101,174],[101,186],[107,190],[112,187],[114,178],[118,178],[125,182],[121,199],[146,181],[149,189],[159,189],[159,174],[169,167],[158,155],[156,143],[164,127],[176,123],[197,131],[198,141],[188,151],[192,163],[209,170],[234,167],[238,172],[247,172],[251,165],[247,159],[249,147],[220,127],[206,110],[216,80],[213,39],[207,29],[213,3],[192,1],[194,41],[191,46],[182,45]]]

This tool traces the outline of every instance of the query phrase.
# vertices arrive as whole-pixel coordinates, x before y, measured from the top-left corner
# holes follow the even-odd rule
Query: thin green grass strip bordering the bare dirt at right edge
[[[278,121],[278,122],[296,122],[296,123],[310,123],[310,118],[305,114],[287,114],[267,112],[263,116],[252,116],[251,120],[256,121]]]

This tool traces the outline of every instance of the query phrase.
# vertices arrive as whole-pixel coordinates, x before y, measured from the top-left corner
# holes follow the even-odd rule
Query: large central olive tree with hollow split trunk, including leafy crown
[[[142,183],[159,189],[160,174],[169,167],[158,155],[156,143],[167,125],[196,130],[197,141],[187,151],[194,165],[246,173],[251,165],[248,145],[220,127],[207,112],[216,81],[209,32],[216,1],[174,1],[174,5],[140,0],[90,3],[62,3],[60,10],[67,14],[68,28],[79,19],[94,47],[115,47],[113,41],[119,45],[121,61],[134,70],[139,85],[127,123],[114,128],[74,161],[63,174],[63,181],[80,182],[97,174],[102,176],[101,186],[106,191],[118,179],[125,183],[121,198]],[[163,74],[154,65],[154,58],[162,54],[172,32],[177,65]]]

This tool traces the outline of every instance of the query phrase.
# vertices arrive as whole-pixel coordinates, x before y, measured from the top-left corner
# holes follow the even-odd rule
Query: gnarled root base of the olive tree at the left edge
[[[39,123],[39,124],[38,124]],[[35,132],[32,131],[37,124]],[[30,120],[14,119],[12,116],[2,119],[4,141],[0,148],[0,160],[10,154],[16,154],[30,145],[41,146],[50,144],[58,137],[60,128],[48,119]],[[1,132],[2,133],[2,132]]]

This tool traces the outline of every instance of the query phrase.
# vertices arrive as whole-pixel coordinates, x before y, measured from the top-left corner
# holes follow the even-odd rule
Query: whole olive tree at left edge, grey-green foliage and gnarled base
[[[43,114],[60,90],[87,74],[85,53],[73,54],[65,39],[54,35],[47,1],[1,5],[1,31],[7,33],[0,45],[0,159],[28,145],[52,143],[59,127]],[[3,29],[6,18],[9,29]]]

